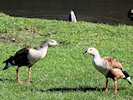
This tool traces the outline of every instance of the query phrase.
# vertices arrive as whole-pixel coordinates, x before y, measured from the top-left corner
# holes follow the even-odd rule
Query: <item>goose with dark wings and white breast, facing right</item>
[[[19,84],[23,82],[19,79],[19,68],[21,66],[28,67],[28,83],[30,82],[31,67],[40,59],[43,59],[47,54],[47,49],[49,46],[56,46],[58,43],[55,40],[45,40],[41,43],[38,49],[33,47],[25,47],[17,51],[13,56],[9,57],[7,60],[3,61],[5,67],[3,70],[8,69],[10,66],[17,66],[16,69],[16,80]]]

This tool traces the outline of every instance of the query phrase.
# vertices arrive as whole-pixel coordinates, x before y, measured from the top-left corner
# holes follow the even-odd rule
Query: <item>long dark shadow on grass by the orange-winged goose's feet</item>
[[[69,87],[50,88],[47,90],[32,88],[31,90],[39,91],[39,92],[74,92],[74,91],[87,92],[87,91],[104,91],[104,88],[82,86],[82,87],[75,87],[75,88],[69,88]]]

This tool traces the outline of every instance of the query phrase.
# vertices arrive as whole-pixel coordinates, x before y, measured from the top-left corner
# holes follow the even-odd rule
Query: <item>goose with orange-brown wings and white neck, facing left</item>
[[[93,64],[95,68],[101,72],[106,77],[106,86],[105,86],[105,92],[108,92],[108,78],[112,78],[114,81],[114,93],[116,94],[118,85],[117,80],[118,79],[125,79],[128,81],[128,83],[131,85],[131,77],[129,76],[128,72],[125,71],[122,64],[116,60],[115,58],[105,56],[101,57],[99,54],[99,51],[94,48],[90,47],[88,48],[84,54],[90,54],[93,55]]]

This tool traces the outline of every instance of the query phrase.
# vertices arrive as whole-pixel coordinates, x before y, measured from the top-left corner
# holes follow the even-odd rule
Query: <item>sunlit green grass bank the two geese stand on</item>
[[[48,48],[48,54],[32,67],[32,83],[19,85],[16,67],[3,71],[2,61],[24,46],[38,45],[44,39],[55,39],[58,47]],[[89,22],[10,17],[0,14],[0,99],[2,100],[132,100],[133,86],[119,80],[114,95],[113,81],[109,92],[105,78],[92,65],[92,56],[82,53],[96,47],[102,56],[118,58],[133,77],[133,27],[112,26]],[[27,67],[20,68],[20,78],[27,78]]]

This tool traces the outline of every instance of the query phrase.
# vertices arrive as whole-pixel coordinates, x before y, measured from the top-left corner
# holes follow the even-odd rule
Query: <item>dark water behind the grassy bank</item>
[[[68,20],[70,9],[77,20],[133,25],[127,14],[133,0],[0,0],[0,12],[12,16]]]

